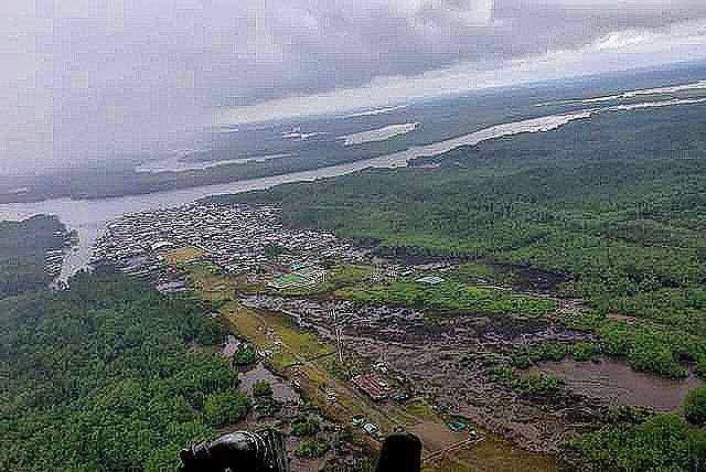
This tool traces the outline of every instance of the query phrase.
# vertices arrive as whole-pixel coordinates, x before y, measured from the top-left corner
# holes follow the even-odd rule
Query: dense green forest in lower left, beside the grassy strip
[[[0,313],[2,470],[173,470],[180,448],[248,411],[221,325],[189,296],[79,273]]]

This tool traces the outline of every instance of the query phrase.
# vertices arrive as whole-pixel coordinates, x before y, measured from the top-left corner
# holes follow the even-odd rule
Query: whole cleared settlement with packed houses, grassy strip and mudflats
[[[226,343],[229,358],[233,346],[248,343],[257,372],[296,391],[295,411],[306,398],[322,409],[321,421],[357,431],[364,442],[403,429],[418,433],[435,461],[458,449],[454,460],[463,455],[464,463],[475,464],[468,448],[483,442],[530,464],[548,459],[500,441],[492,431],[503,430],[535,451],[571,433],[566,417],[576,408],[547,411],[489,383],[486,372],[507,362],[518,345],[580,339],[579,333],[533,315],[440,315],[418,296],[408,305],[350,298],[371,290],[385,294],[395,285],[434,297],[457,277],[458,262],[381,259],[332,234],[286,227],[277,207],[196,203],[110,222],[92,264],[143,278],[165,294],[197,288],[223,307],[213,317],[238,335]],[[554,303],[482,277],[472,283],[484,285],[479,293],[492,302]],[[346,288],[352,291],[341,292]],[[473,297],[470,302],[478,302]],[[571,401],[581,411],[597,408]],[[526,428],[527,418],[539,417],[552,429]]]

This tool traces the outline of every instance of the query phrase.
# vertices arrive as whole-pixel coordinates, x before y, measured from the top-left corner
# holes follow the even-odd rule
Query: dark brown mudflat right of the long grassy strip
[[[578,341],[587,334],[549,319],[514,315],[422,313],[276,297],[247,297],[244,302],[284,312],[329,339],[334,332],[335,310],[345,352],[354,353],[365,365],[384,366],[385,375],[402,382],[410,396],[427,398],[537,452],[558,452],[561,442],[590,429],[609,407],[672,410],[698,385],[695,379],[675,383],[638,374],[619,361],[566,361],[542,366],[565,378],[566,387],[552,398],[528,398],[489,382],[488,366],[507,361],[517,346]],[[569,300],[561,302],[559,310],[576,308],[576,301]]]

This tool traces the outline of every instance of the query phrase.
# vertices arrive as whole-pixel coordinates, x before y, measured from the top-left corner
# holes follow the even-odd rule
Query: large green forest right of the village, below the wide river
[[[454,256],[557,272],[609,355],[638,371],[706,373],[706,115],[603,114],[434,158],[218,200],[285,208],[399,256]],[[619,312],[643,320],[606,319]]]

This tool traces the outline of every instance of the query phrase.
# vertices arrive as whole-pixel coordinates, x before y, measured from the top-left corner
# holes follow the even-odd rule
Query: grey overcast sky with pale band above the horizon
[[[188,147],[214,109],[252,121],[706,57],[704,0],[1,3],[4,169]]]

